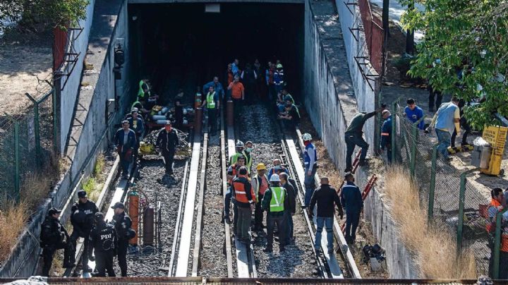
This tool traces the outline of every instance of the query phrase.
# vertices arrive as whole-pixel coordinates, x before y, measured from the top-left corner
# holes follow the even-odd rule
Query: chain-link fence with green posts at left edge
[[[48,172],[54,154],[54,90],[44,83],[26,96],[25,107],[0,115],[0,207],[18,202],[22,190],[42,187],[40,193],[47,193],[49,185],[37,183],[54,174]],[[25,196],[36,195],[28,192]]]

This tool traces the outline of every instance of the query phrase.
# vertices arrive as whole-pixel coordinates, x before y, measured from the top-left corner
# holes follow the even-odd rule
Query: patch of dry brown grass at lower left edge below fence
[[[0,211],[0,260],[5,260],[11,254],[11,248],[16,245],[18,236],[28,221],[28,204],[8,204]]]

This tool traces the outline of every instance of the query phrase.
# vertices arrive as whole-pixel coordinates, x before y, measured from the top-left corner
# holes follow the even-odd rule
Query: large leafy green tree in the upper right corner
[[[401,0],[408,5],[412,0]],[[402,17],[405,29],[421,30],[409,75],[428,78],[435,90],[463,98],[484,97],[466,109],[474,128],[508,116],[508,3],[505,0],[415,0]]]

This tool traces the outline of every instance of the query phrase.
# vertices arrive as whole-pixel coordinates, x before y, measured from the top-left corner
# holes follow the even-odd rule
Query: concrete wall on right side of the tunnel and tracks
[[[339,11],[341,6],[347,8],[342,1],[335,4],[337,6],[331,1],[306,1],[304,90],[310,119],[330,158],[337,169],[343,171],[346,164],[344,131],[358,110],[374,109],[374,92],[365,83],[353,58],[358,51],[358,42],[351,39],[351,32],[347,26],[344,27],[351,27],[354,18],[347,10],[337,14],[335,8]],[[343,14],[346,16],[341,18]],[[365,37],[358,33],[356,36]],[[373,119],[365,124],[363,131],[372,154],[375,145]],[[368,183],[368,175],[362,168],[356,171],[356,181],[362,189]],[[389,277],[417,278],[418,268],[413,256],[399,240],[397,224],[376,188],[371,190],[365,200],[364,209],[365,220],[370,222],[377,241],[387,250]]]

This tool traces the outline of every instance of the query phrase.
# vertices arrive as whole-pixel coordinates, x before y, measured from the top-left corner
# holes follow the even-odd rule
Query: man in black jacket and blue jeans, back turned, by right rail
[[[317,217],[316,217],[316,236],[314,248],[316,251],[321,250],[321,233],[323,226],[326,227],[327,241],[328,241],[328,253],[331,255],[334,253],[333,243],[333,222],[334,222],[334,203],[337,205],[339,215],[342,218],[344,212],[342,212],[341,202],[337,190],[329,186],[328,178],[321,178],[321,186],[314,190],[313,196],[310,199],[310,217],[314,214],[314,207],[317,203]]]

